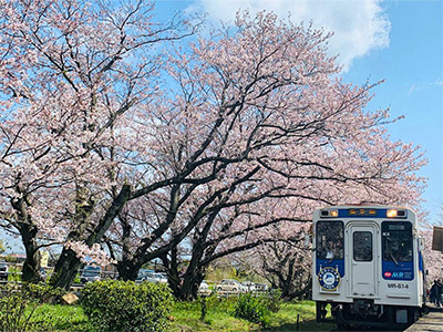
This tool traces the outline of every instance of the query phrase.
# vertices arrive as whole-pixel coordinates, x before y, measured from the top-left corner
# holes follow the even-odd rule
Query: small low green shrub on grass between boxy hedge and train
[[[269,323],[269,313],[262,299],[255,298],[250,293],[239,297],[234,311],[236,318],[260,323],[265,326]]]

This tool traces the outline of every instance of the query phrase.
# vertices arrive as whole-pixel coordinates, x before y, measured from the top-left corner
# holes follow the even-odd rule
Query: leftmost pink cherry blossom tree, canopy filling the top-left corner
[[[198,22],[156,24],[142,0],[0,6],[2,226],[22,239],[24,280],[38,279],[39,248],[63,245],[54,282],[66,287],[79,252],[104,257],[93,245],[128,199],[122,156],[140,152],[125,113],[157,93],[165,43]]]

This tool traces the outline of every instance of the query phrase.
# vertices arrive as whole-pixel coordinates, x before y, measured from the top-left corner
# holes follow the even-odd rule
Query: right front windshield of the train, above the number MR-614
[[[383,221],[383,260],[398,262],[412,261],[412,225],[406,221]]]

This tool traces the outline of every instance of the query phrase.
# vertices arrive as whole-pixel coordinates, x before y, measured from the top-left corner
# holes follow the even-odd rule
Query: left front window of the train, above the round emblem
[[[343,222],[342,221],[318,221],[317,238],[317,258],[318,259],[343,259]]]

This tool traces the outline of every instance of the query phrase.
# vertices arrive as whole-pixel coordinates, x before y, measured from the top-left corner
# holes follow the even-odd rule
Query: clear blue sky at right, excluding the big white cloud
[[[372,107],[391,108],[405,118],[389,126],[392,138],[425,151],[429,178],[423,205],[430,220],[443,224],[443,1],[389,1],[381,4],[391,22],[390,44],[356,59],[344,74],[351,82],[385,80]]]

